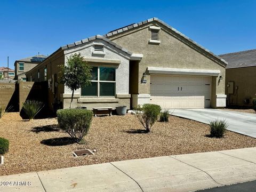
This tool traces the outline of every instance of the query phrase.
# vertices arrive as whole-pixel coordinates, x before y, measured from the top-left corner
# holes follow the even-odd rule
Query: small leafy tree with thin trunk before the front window
[[[83,60],[81,54],[74,54],[68,58],[67,65],[62,67],[61,82],[72,91],[70,107],[72,106],[74,91],[82,86],[91,85],[91,67]]]

